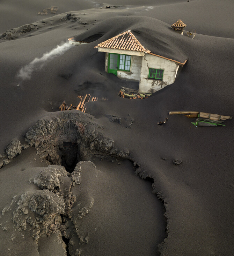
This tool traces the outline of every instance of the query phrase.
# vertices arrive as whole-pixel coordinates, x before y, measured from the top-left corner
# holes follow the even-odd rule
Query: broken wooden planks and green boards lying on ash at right
[[[196,111],[171,111],[169,112],[169,115],[184,115],[189,118],[197,117],[195,122],[191,122],[195,126],[225,126],[224,124],[221,124],[222,122],[224,122],[221,120],[232,119],[232,116],[224,116]]]

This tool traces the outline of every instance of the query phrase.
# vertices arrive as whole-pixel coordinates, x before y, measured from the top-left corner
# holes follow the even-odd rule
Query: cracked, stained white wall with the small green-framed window
[[[152,54],[142,57],[139,92],[154,93],[175,81],[177,63]],[[162,81],[148,78],[149,68],[163,69]]]

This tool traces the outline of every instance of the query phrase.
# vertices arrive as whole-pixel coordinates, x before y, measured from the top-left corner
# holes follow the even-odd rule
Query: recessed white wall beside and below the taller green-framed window
[[[141,70],[141,59],[142,59],[141,56],[132,55],[130,72],[118,70],[117,77],[123,80],[139,81],[140,70]]]

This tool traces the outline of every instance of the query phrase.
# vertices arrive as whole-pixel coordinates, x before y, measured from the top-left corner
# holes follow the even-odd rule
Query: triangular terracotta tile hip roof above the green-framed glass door
[[[142,46],[130,30],[99,43],[95,46],[95,48],[97,47],[150,53],[150,50]]]

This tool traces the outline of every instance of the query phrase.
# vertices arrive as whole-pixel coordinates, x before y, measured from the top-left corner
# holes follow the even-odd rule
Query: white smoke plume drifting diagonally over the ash
[[[41,58],[35,58],[28,65],[22,67],[18,72],[17,77],[21,78],[22,80],[30,79],[32,72],[41,69],[45,65],[46,61],[52,60],[59,55],[63,55],[71,47],[73,47],[73,45],[71,45],[69,42],[66,42],[60,46],[58,45],[49,53],[44,53]]]

